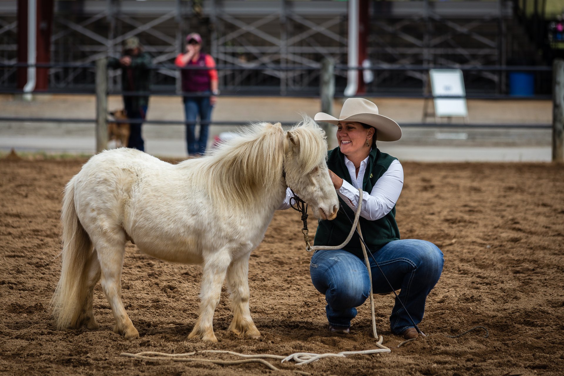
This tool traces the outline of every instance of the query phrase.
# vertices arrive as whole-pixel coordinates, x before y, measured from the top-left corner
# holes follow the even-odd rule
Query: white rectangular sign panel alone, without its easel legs
[[[460,69],[429,69],[433,96],[465,97]],[[466,98],[434,98],[435,116],[468,116]]]

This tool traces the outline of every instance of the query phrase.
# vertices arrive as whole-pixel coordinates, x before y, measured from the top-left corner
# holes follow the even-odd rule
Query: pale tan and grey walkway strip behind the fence
[[[398,123],[421,121],[424,101],[418,99],[373,99],[380,113]],[[334,103],[340,112],[342,100]],[[1,116],[94,119],[92,96],[36,96],[27,102],[0,96]],[[121,107],[121,99],[109,98],[109,109]],[[316,98],[220,98],[214,121],[298,122],[301,112],[313,117],[319,111]],[[469,100],[469,121],[483,124],[548,124],[552,122],[552,103],[539,100]],[[183,120],[177,97],[151,98],[148,123],[143,126],[146,151],[162,157],[186,157],[184,126],[152,125],[151,120]],[[548,162],[551,158],[550,129],[468,129],[455,126],[404,127],[400,141],[381,142],[378,148],[403,161],[529,161]],[[222,131],[235,126],[211,126],[210,143]],[[109,145],[112,146],[111,144]],[[0,153],[11,148],[21,152],[95,152],[94,123],[0,122]]]

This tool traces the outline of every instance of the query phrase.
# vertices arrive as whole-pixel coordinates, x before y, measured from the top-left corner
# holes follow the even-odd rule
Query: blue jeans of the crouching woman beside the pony
[[[425,299],[443,271],[443,253],[433,243],[424,240],[395,240],[378,250],[376,262],[384,271],[394,290],[406,306],[409,315],[419,324],[425,312]],[[391,293],[380,269],[369,257],[372,286],[375,294]],[[327,320],[333,326],[350,326],[356,308],[370,295],[370,280],[364,260],[345,250],[320,250],[311,258],[311,281],[325,294]],[[391,311],[390,329],[395,334],[413,328],[405,309],[396,299]]]

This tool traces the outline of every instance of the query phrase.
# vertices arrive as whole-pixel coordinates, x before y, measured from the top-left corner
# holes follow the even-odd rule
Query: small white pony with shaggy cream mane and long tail
[[[260,333],[249,312],[249,255],[262,241],[287,187],[333,219],[338,200],[324,132],[305,118],[284,132],[261,123],[205,157],[171,165],[135,149],[96,154],[65,187],[63,251],[52,300],[58,329],[98,329],[94,286],[112,308],[113,331],[139,337],[121,301],[125,243],[178,263],[202,264],[200,316],[188,338],[217,342],[212,320],[227,275],[233,319],[241,337]]]

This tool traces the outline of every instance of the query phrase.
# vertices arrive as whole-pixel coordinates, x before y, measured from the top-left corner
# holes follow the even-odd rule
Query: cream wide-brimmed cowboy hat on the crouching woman
[[[340,121],[358,121],[376,129],[378,141],[397,141],[402,137],[402,129],[389,117],[378,114],[378,107],[368,99],[349,98],[343,103],[339,118],[324,112],[315,114],[315,121],[337,125]]]

